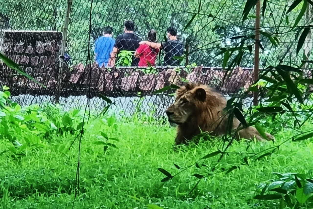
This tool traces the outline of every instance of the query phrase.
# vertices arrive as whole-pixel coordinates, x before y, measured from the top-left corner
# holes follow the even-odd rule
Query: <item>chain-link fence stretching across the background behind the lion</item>
[[[68,108],[79,107],[86,105],[90,96],[92,108],[100,109],[106,105],[100,95],[105,95],[115,101],[116,110],[128,113],[141,104],[142,111],[163,114],[173,98],[168,92],[152,93],[186,80],[200,81],[224,94],[237,94],[254,78],[256,17],[252,9],[242,21],[245,2],[2,1],[0,52],[46,88],[3,63],[0,84],[9,86],[13,99],[22,104],[59,100]],[[267,1],[260,25],[261,68],[299,65],[312,58],[311,33],[300,51],[303,56],[296,56],[302,28],[296,33],[291,29],[301,7],[286,14],[292,2]],[[308,5],[298,25],[311,22],[312,7]],[[225,62],[225,48],[229,47],[233,53],[229,51]],[[228,67],[231,76],[225,76]]]

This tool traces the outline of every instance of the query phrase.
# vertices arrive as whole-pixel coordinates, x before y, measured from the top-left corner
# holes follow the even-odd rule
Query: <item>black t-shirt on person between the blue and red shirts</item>
[[[127,50],[127,51],[136,51],[139,47],[139,42],[141,38],[134,33],[124,33],[117,36],[115,40],[115,45],[118,51]],[[118,57],[116,57],[118,59]],[[138,66],[139,58],[133,56],[131,66]]]

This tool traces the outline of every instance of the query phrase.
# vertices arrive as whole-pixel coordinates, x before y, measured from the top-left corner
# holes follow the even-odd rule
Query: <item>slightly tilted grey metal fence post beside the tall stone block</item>
[[[66,37],[67,37],[67,30],[69,26],[69,14],[72,6],[72,0],[67,1],[66,6],[66,13],[64,19],[64,27],[62,31],[62,46],[61,46],[61,54],[60,54],[60,64],[59,64],[59,72],[58,72],[58,83],[57,83],[57,90],[55,94],[55,103],[59,103],[60,100],[60,92],[62,88],[62,72],[63,72],[63,63],[64,63],[64,51],[66,47]]]

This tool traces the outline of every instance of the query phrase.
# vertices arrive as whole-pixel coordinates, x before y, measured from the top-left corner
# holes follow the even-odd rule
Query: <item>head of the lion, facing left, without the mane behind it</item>
[[[175,102],[165,111],[171,126],[181,125],[188,121],[199,106],[206,100],[206,90],[202,86],[187,83],[176,92]]]

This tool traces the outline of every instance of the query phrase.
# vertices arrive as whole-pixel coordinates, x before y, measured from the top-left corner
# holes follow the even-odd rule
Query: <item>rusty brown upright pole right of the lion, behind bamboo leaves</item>
[[[254,45],[254,82],[259,78],[259,28],[260,28],[260,10],[261,10],[261,0],[256,3],[255,7],[255,45]],[[257,86],[258,88],[258,86]],[[258,91],[253,93],[253,105],[258,105]]]

